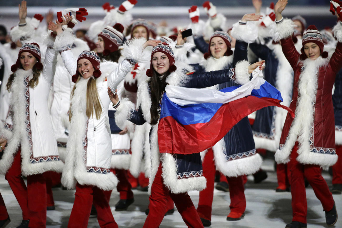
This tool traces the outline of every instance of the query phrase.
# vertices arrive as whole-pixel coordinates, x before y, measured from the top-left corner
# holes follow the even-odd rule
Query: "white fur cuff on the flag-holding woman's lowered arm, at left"
[[[128,98],[122,98],[115,112],[115,123],[120,129],[124,129],[128,124],[128,119],[132,115],[131,110],[134,110],[134,104]]]

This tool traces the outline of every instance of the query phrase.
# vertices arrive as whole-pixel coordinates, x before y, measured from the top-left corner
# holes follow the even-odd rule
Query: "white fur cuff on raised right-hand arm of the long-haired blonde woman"
[[[145,52],[143,44],[146,42],[145,38],[127,40],[123,44],[122,55],[127,59],[134,59],[135,62],[146,63],[150,61],[150,53]]]

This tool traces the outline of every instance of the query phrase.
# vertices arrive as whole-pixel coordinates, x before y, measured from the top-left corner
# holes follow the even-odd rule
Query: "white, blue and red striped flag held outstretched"
[[[167,85],[161,100],[158,144],[161,153],[198,153],[214,146],[250,113],[280,104],[280,92],[254,70],[244,85],[220,91]]]

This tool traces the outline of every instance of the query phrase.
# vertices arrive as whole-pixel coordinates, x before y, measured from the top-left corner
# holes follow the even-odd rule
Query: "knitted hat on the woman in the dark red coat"
[[[303,33],[303,37],[302,37],[302,49],[300,50],[302,52],[302,54],[300,55],[300,58],[302,60],[306,59],[306,55],[304,53],[304,44],[306,43],[310,43],[313,42],[315,44],[318,45],[320,51],[321,51],[321,56],[323,58],[328,57],[328,52],[324,52],[324,43],[323,43],[323,36],[322,33],[320,33],[316,26],[314,25],[310,25],[309,27],[307,27],[306,31]]]

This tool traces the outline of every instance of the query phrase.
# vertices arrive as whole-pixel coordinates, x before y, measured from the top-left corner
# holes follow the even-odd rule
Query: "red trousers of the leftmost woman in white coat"
[[[12,166],[5,175],[29,227],[46,226],[46,183],[43,174],[27,176],[27,187],[21,176],[21,151],[14,156]]]

